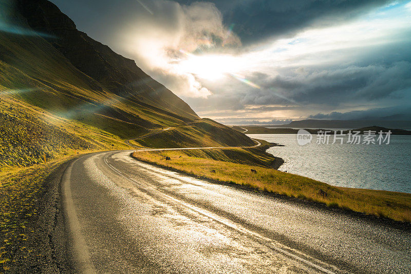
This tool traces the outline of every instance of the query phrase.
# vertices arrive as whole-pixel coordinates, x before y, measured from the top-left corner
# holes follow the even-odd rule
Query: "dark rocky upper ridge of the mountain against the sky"
[[[48,34],[45,40],[59,50],[77,69],[120,97],[134,97],[150,105],[198,119],[197,114],[169,89],[126,58],[86,33],[47,0],[18,0],[16,5],[35,31]],[[169,103],[171,102],[171,103]]]

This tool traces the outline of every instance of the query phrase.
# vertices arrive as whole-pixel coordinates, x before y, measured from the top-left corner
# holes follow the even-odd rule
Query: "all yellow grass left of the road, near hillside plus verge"
[[[2,272],[16,263],[16,252],[28,256],[32,251],[28,242],[34,230],[39,229],[33,224],[41,213],[38,201],[46,191],[45,178],[78,153],[127,146],[119,136],[55,116],[11,96],[1,98],[0,132]]]

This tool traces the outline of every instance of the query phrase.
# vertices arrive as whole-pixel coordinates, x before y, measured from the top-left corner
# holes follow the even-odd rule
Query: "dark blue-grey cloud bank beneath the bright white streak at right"
[[[327,104],[376,101],[411,92],[411,63],[322,68],[305,75],[298,73],[270,78],[260,74],[253,81],[260,90],[242,97],[244,104]]]

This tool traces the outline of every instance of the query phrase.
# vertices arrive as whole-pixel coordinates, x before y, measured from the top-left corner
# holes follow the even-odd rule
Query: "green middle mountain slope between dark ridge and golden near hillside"
[[[183,134],[184,144],[195,145],[199,137],[203,144],[210,143],[210,139],[220,145],[252,143],[245,135],[210,120],[184,118],[106,90],[39,36],[0,32],[0,48],[1,91],[55,115],[122,139],[132,139],[161,127],[191,125],[184,132],[193,134]]]

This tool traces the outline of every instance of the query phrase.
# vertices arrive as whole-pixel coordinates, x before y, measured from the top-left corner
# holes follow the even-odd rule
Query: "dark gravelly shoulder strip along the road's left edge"
[[[78,158],[76,156],[76,158]],[[17,217],[24,223],[26,238],[16,242],[7,270],[13,273],[74,273],[70,239],[65,228],[61,181],[66,168],[76,159],[51,164],[33,172],[44,172],[40,191],[33,197],[33,209]]]

